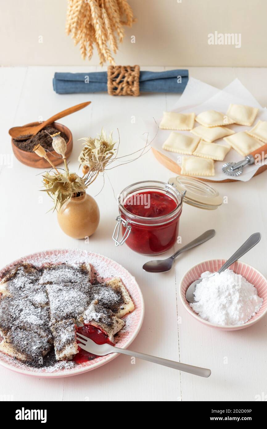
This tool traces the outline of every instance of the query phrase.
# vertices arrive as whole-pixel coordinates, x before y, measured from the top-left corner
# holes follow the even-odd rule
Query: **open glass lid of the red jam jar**
[[[189,176],[177,176],[170,178],[168,183],[174,184],[182,194],[186,191],[183,197],[183,202],[186,204],[205,210],[215,210],[222,204],[223,200],[219,192],[204,181]]]

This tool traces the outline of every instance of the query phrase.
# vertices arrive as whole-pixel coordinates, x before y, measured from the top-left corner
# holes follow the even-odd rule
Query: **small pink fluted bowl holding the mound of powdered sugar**
[[[264,275],[261,274],[261,272],[252,266],[244,262],[237,261],[229,267],[229,269],[232,269],[237,274],[243,275],[243,277],[245,277],[249,283],[253,284],[258,290],[258,296],[263,298],[263,304],[258,313],[256,313],[256,315],[253,316],[248,322],[243,323],[243,325],[217,325],[215,323],[210,323],[198,316],[198,314],[193,311],[193,309],[189,306],[189,302],[186,300],[186,290],[193,281],[198,280],[201,274],[205,271],[218,271],[225,262],[225,259],[213,259],[193,266],[191,269],[189,269],[189,271],[186,272],[180,282],[179,295],[183,306],[186,308],[189,314],[191,314],[191,316],[193,316],[199,322],[203,323],[203,325],[211,326],[223,331],[236,331],[237,329],[244,329],[248,326],[254,325],[254,323],[258,322],[258,320],[264,317],[264,315],[267,313],[267,279],[264,277]]]

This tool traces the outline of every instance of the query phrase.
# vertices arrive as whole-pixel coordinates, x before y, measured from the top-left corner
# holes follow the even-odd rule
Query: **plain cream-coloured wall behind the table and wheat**
[[[66,0],[0,0],[0,63],[97,65],[64,33]],[[126,29],[117,64],[267,66],[267,0],[129,0],[138,22]],[[208,34],[241,34],[241,47],[210,45]],[[42,36],[42,43],[39,43]],[[131,43],[135,36],[135,43]],[[238,42],[238,40],[237,40]]]

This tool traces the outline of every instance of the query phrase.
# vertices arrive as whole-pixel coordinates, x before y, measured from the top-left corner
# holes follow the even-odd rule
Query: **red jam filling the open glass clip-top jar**
[[[174,216],[170,215],[177,208],[174,198],[156,190],[140,191],[129,196],[123,207],[135,216],[133,219],[128,218],[125,212],[121,214],[131,226],[131,232],[126,239],[129,248],[144,255],[157,255],[174,245],[181,214],[179,211]],[[147,219],[141,220],[139,217]],[[155,219],[159,217],[162,218]],[[122,227],[122,230],[125,233],[125,227]]]

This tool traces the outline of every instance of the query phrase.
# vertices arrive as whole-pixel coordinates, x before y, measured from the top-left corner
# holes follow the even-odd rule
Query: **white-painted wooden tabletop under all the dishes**
[[[216,230],[216,236],[181,255],[171,272],[151,275],[142,271],[143,263],[149,258],[135,254],[126,245],[116,248],[111,239],[118,213],[114,193],[117,195],[135,181],[168,181],[172,175],[156,161],[151,151],[135,163],[108,173],[114,193],[106,180],[104,189],[96,197],[101,213],[99,228],[89,243],[64,235],[57,225],[56,214],[46,213],[51,208],[51,200],[39,192],[41,170],[24,166],[16,158],[11,158],[11,165],[5,162],[12,154],[10,127],[38,121],[40,116],[45,120],[87,100],[92,101],[90,106],[60,121],[73,133],[71,169],[78,168],[81,149],[78,139],[94,136],[102,126],[114,130],[115,136],[116,129],[120,130],[122,154],[143,146],[141,137],[146,130],[142,118],[159,117],[163,110],[172,108],[179,95],[116,98],[107,94],[54,93],[52,77],[55,71],[97,69],[87,66],[0,69],[0,265],[51,248],[90,249],[105,254],[135,275],[144,295],[144,323],[132,348],[210,368],[212,375],[208,379],[199,378],[141,360],[132,365],[127,356],[119,356],[87,374],[58,380],[30,378],[0,367],[0,397],[11,395],[17,401],[254,401],[256,395],[267,393],[267,317],[240,331],[210,329],[189,316],[177,290],[181,277],[192,265],[213,257],[230,256],[256,231],[262,233],[261,242],[242,260],[267,275],[267,172],[246,183],[216,184],[220,194],[228,196],[228,204],[216,211],[184,204],[180,221],[183,244],[210,228]],[[162,70],[163,67],[143,69]],[[267,69],[189,68],[190,76],[218,88],[238,77],[262,106],[267,105],[266,73]],[[134,123],[132,117],[135,117]],[[88,192],[94,196],[101,187],[99,178]],[[175,250],[177,248],[178,245]]]

